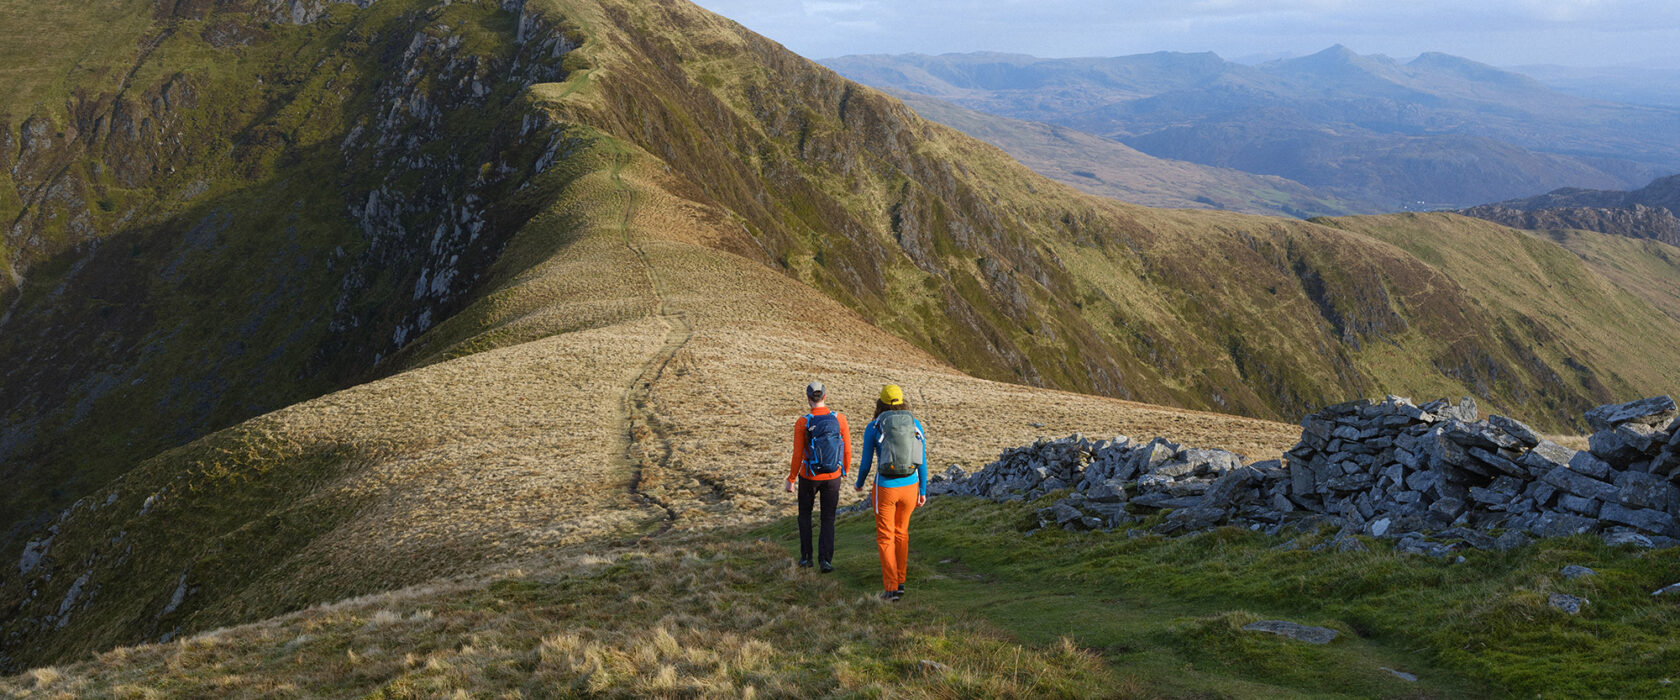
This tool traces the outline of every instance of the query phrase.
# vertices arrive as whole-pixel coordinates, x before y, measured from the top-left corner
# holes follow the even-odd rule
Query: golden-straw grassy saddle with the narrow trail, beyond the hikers
[[[444,353],[536,339],[432,358],[141,463],[72,507],[37,567],[7,577],[18,608],[5,661],[785,514],[788,435],[811,378],[858,416],[855,433],[882,383],[911,388],[937,465],[978,468],[1075,430],[1253,457],[1295,435],[968,378],[798,280],[696,243],[739,233],[665,190],[650,154],[600,139],[578,163],[601,168],[511,243],[546,253],[509,269],[460,317],[482,331]]]

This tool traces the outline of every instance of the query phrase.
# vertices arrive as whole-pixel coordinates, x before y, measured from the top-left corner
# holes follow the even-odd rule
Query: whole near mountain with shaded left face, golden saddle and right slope
[[[158,20],[195,60],[160,72],[286,91],[249,112],[198,92],[181,119],[230,136],[183,128],[208,154],[176,170],[207,190],[148,185],[186,201],[30,265],[0,322],[0,359],[37,373],[7,374],[25,408],[0,457],[47,512],[0,542],[10,668],[785,514],[813,376],[852,415],[906,384],[934,460],[969,467],[1042,431],[1250,457],[1299,435],[1122,398],[1294,420],[1475,393],[1564,428],[1680,379],[1680,322],[1549,240],[1094,198],[684,2],[193,12]],[[81,163],[69,190],[114,168],[54,158]],[[121,253],[138,280],[74,272]],[[101,321],[151,295],[134,329]],[[160,430],[207,381],[220,418]]]

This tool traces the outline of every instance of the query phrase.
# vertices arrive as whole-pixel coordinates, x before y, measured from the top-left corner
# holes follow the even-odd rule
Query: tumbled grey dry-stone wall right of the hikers
[[[1280,462],[1075,435],[1008,450],[974,475],[948,470],[931,492],[1018,500],[1072,488],[1038,512],[1040,527],[1112,529],[1166,509],[1161,534],[1332,522],[1436,556],[1450,547],[1425,535],[1482,549],[1583,532],[1672,546],[1680,544],[1677,415],[1668,396],[1599,406],[1586,415],[1598,428],[1591,447],[1571,450],[1514,418],[1480,420],[1468,398],[1389,396],[1304,418],[1300,443]]]

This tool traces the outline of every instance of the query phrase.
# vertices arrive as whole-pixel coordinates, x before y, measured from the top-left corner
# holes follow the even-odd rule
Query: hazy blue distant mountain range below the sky
[[[1332,47],[1242,65],[1215,54],[825,60],[877,87],[1105,136],[1158,158],[1275,175],[1389,210],[1458,208],[1680,171],[1680,109],[1574,97],[1473,60]]]

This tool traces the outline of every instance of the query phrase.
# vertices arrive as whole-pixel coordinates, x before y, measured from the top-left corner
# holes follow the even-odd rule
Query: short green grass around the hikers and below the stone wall
[[[1043,504],[1037,504],[1043,505]],[[1310,552],[1324,534],[1020,532],[1030,504],[939,499],[911,525],[906,603],[998,624],[1028,645],[1070,638],[1147,693],[1171,697],[1655,697],[1680,661],[1680,609],[1650,591],[1680,579],[1672,552],[1593,537],[1465,562]],[[791,520],[758,530],[796,551]],[[838,527],[837,577],[880,588],[872,515]],[[1599,576],[1567,581],[1566,564]],[[1579,616],[1546,596],[1591,604]],[[1247,633],[1255,619],[1329,626],[1326,646]],[[1381,668],[1420,676],[1406,683]]]

